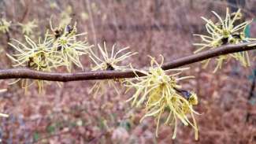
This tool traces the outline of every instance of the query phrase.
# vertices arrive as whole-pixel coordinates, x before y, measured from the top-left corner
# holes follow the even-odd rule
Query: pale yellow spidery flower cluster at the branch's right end
[[[194,44],[195,46],[200,46],[195,53],[205,50],[206,48],[213,49],[225,44],[238,44],[240,42],[250,42],[250,40],[254,40],[246,37],[244,34],[245,28],[250,24],[250,21],[244,21],[240,11],[239,9],[236,13],[229,13],[229,9],[227,9],[224,20],[213,11],[213,14],[218,20],[216,23],[214,23],[213,20],[202,17],[202,19],[206,21],[206,31],[209,35],[195,35],[202,39],[202,43]],[[248,53],[240,52],[217,57],[217,66],[214,72],[216,72],[218,68],[221,68],[222,63],[230,57],[240,61],[243,66],[250,66]],[[210,60],[206,61],[206,65],[209,61]]]

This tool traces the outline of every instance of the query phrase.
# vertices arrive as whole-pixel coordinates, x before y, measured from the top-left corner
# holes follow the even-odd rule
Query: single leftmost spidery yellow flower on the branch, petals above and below
[[[13,42],[17,42],[17,46],[13,45],[13,43],[9,43],[9,45],[16,50],[17,54],[13,54],[12,56],[9,54],[6,55],[16,63],[13,65],[14,67],[25,66],[38,71],[50,72],[51,68],[57,68],[61,64],[61,57],[53,55],[53,51],[50,47],[51,43],[47,41],[47,36],[44,38],[43,42],[41,42],[39,38],[38,43],[32,41],[28,36],[25,36],[28,46],[16,39],[12,40]],[[17,79],[17,81],[19,80],[20,79]],[[13,83],[17,83],[17,81]],[[34,83],[37,83],[39,92],[43,90],[43,80],[30,81],[29,79],[22,79],[21,81],[25,92],[27,92],[27,88]]]

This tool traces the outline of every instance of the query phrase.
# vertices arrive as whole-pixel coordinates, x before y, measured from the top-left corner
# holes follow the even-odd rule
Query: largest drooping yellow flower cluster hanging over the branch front
[[[164,116],[164,113],[168,113],[165,124],[174,124],[173,138],[176,138],[177,120],[180,120],[184,125],[191,125],[191,127],[195,129],[195,139],[198,139],[198,127],[194,117],[194,113],[196,112],[193,110],[193,105],[198,104],[197,96],[193,92],[181,90],[181,86],[177,84],[180,80],[188,79],[193,76],[177,78],[176,76],[180,75],[180,73],[187,68],[164,71],[161,68],[162,63],[163,57],[161,64],[158,64],[158,62],[151,57],[151,67],[148,72],[136,70],[137,72],[143,73],[145,76],[137,76],[134,79],[126,79],[124,81],[128,90],[135,88],[135,93],[132,98],[128,99],[128,102],[132,101],[132,105],[136,106],[145,105],[146,114],[143,118],[147,116],[156,117],[156,135],[158,135],[161,117]],[[167,72],[174,73],[167,75]],[[192,122],[187,117],[187,114],[190,114]],[[141,120],[143,120],[143,118]]]

